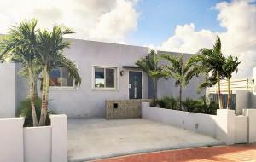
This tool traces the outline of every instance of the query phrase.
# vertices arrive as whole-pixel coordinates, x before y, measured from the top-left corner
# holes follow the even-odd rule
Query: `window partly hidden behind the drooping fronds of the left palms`
[[[49,86],[75,88],[73,78],[69,77],[67,68],[57,67],[49,72]]]

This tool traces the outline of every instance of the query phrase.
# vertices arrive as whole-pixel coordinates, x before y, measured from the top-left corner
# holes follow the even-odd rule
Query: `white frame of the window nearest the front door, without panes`
[[[105,86],[106,86],[106,69],[113,69],[114,70],[114,86],[111,87],[95,87],[95,68],[103,68],[104,69],[104,79],[105,79]],[[92,66],[92,79],[91,79],[91,88],[92,90],[119,90],[119,67],[113,66]]]

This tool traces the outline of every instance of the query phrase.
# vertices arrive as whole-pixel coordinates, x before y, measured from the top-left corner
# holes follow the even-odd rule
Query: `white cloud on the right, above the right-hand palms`
[[[174,35],[156,49],[195,53],[198,49],[212,48],[217,35],[222,40],[225,55],[238,55],[242,61],[236,78],[253,75],[256,67],[256,5],[252,0],[235,0],[216,4],[218,21],[225,32],[195,30],[195,25],[177,26]],[[151,45],[152,47],[152,45]]]

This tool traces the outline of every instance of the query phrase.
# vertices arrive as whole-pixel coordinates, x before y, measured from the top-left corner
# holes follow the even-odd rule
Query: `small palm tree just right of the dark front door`
[[[154,50],[151,50],[145,58],[141,58],[136,62],[136,65],[143,69],[143,72],[146,72],[152,79],[154,89],[154,106],[157,98],[157,81],[159,78],[163,77],[161,67],[158,65],[159,61],[160,59],[155,54]]]

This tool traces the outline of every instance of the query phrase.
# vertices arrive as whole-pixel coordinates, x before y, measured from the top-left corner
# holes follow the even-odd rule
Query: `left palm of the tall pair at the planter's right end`
[[[223,108],[222,95],[220,90],[220,80],[224,79],[224,55],[221,52],[221,41],[217,37],[216,42],[213,45],[213,49],[200,49],[197,55],[192,56],[189,59],[189,67],[193,67],[195,73],[203,74],[206,76],[206,80],[199,88],[211,87],[218,83],[218,102],[219,108]]]

